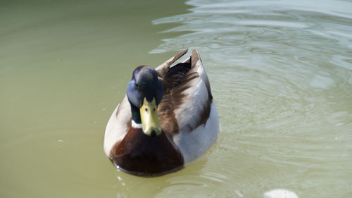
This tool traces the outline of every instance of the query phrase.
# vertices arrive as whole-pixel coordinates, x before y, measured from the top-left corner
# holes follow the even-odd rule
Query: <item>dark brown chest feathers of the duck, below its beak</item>
[[[172,146],[165,132],[149,137],[135,128],[115,144],[110,157],[120,170],[145,177],[178,171],[184,165],[180,151]]]

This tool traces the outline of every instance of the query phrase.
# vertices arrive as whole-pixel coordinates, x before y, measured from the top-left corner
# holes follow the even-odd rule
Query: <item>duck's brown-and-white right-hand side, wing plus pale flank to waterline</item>
[[[167,89],[158,106],[159,120],[161,128],[182,152],[184,162],[189,163],[215,142],[219,118],[199,51],[193,50],[190,58],[174,67],[164,78]],[[187,67],[189,70],[182,77]],[[180,77],[182,80],[177,85],[172,83]]]

